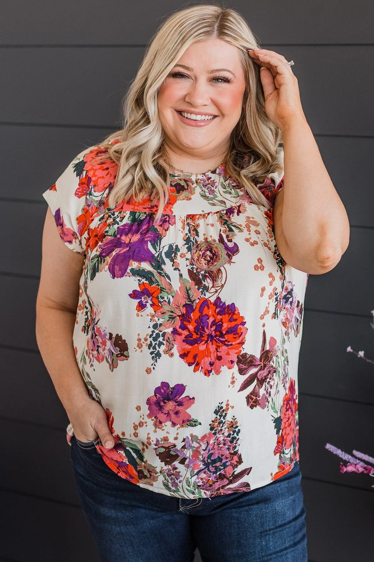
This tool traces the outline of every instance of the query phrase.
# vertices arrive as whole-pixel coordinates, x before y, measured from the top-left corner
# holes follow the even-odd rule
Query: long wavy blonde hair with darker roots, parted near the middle
[[[158,202],[156,220],[160,219],[168,200],[170,174],[158,161],[164,154],[165,142],[158,116],[158,92],[184,51],[192,43],[211,38],[222,39],[239,49],[246,80],[242,114],[232,131],[227,153],[227,173],[246,189],[256,205],[270,209],[269,201],[253,179],[262,182],[270,173],[281,170],[278,147],[283,145],[283,139],[279,127],[265,113],[260,67],[247,52],[260,46],[238,12],[215,4],[200,4],[175,12],[150,39],[135,79],[123,98],[123,129],[97,145],[107,149],[107,157],[118,164],[108,198],[110,208],[130,197],[140,201],[148,196],[152,203]],[[113,144],[114,140],[117,142]],[[246,156],[248,160],[244,161]],[[103,154],[99,158],[103,161]]]

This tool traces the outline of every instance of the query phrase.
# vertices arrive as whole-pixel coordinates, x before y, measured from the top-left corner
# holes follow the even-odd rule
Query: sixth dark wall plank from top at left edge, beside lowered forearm
[[[40,354],[0,348],[0,364],[1,416],[24,422],[35,434],[39,429],[28,423],[65,430],[69,420]],[[19,430],[24,432],[21,425]]]

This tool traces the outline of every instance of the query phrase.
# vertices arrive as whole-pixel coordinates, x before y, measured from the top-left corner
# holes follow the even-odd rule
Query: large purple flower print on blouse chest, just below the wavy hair
[[[114,255],[109,262],[111,277],[119,278],[126,275],[131,261],[153,262],[154,255],[148,247],[149,242],[155,242],[159,232],[151,230],[153,222],[147,216],[141,223],[126,223],[117,228],[117,237],[110,238],[101,244],[99,255]]]

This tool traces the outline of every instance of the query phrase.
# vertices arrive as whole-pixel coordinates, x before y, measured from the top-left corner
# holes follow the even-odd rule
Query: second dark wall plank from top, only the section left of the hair
[[[117,127],[137,48],[0,49],[0,121]],[[20,98],[21,92],[27,92]]]

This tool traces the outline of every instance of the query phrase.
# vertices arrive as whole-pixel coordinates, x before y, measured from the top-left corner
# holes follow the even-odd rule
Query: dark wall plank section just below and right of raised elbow
[[[351,228],[349,246],[334,269],[310,275],[304,306],[371,316],[374,308],[374,229]]]

